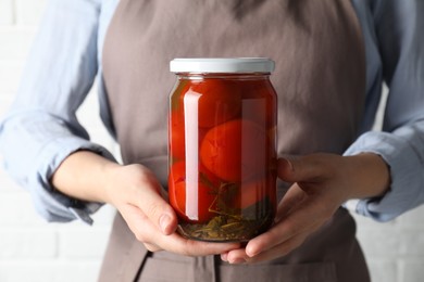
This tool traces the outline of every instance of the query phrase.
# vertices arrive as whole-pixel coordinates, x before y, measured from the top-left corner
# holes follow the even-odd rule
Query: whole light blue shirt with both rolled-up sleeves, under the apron
[[[49,221],[91,222],[89,215],[101,206],[61,194],[49,179],[80,149],[113,159],[108,150],[89,141],[75,112],[99,77],[100,115],[114,136],[101,53],[117,2],[50,0],[16,99],[0,124],[4,169],[30,192]],[[424,1],[352,2],[365,42],[366,105],[361,136],[345,154],[373,152],[389,165],[389,192],[356,205],[357,213],[385,221],[424,202]],[[390,91],[383,131],[370,131],[384,81]]]

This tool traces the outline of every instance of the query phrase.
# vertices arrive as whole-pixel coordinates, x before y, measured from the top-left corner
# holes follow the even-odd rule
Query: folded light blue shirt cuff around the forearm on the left
[[[33,187],[29,191],[36,209],[48,221],[66,222],[80,219],[91,225],[93,221],[90,215],[102,206],[101,203],[72,198],[50,184],[50,178],[60,164],[70,154],[79,150],[91,151],[115,162],[115,158],[107,149],[78,137],[63,137],[49,142],[38,156],[37,177],[28,179],[29,187]],[[34,189],[37,187],[39,189]]]

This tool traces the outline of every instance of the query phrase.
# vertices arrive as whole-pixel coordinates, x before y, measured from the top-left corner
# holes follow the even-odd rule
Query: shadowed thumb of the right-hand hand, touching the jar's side
[[[286,182],[308,182],[322,177],[323,162],[317,155],[278,158],[277,175]]]

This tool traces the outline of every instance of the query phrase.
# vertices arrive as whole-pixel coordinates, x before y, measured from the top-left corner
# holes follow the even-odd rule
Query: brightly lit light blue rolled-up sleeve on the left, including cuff
[[[16,99],[0,124],[3,168],[30,192],[36,209],[49,221],[79,218],[90,223],[89,215],[101,205],[51,187],[49,180],[65,157],[90,150],[113,159],[89,141],[76,118],[98,73],[100,2],[49,1]]]

